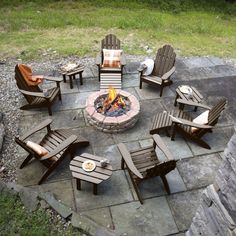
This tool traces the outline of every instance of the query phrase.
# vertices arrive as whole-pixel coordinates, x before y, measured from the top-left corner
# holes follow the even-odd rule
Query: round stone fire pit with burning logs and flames
[[[86,102],[88,122],[107,133],[123,132],[135,125],[140,106],[137,98],[123,90],[101,90]]]

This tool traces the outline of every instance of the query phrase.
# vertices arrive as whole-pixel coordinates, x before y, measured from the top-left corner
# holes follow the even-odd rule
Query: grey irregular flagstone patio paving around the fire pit
[[[111,231],[115,235],[131,236],[184,235],[195,214],[202,191],[214,181],[215,172],[222,162],[222,152],[233,134],[236,122],[236,68],[215,57],[178,58],[173,75],[174,83],[164,89],[163,97],[160,98],[158,88],[144,84],[143,89],[139,89],[136,71],[138,65],[129,56],[123,78],[123,89],[135,95],[141,106],[140,118],[132,129],[119,134],[107,134],[88,124],[84,113],[86,98],[99,89],[96,66],[86,67],[83,74],[84,85],[74,81],[74,88],[70,89],[68,82],[62,83],[62,103],[57,102],[53,107],[53,128],[73,128],[90,141],[91,145],[78,149],[77,155],[88,152],[104,156],[113,165],[113,175],[98,186],[97,196],[93,195],[92,185],[89,183],[82,182],[81,191],[76,189],[75,180],[68,168],[69,157],[41,186],[36,183],[44,169],[36,161],[17,171],[17,183],[41,193],[52,193],[53,197],[49,199],[51,204],[53,205],[55,197],[63,205],[70,207],[74,211],[72,224],[85,230],[91,228],[89,232],[92,234],[96,231],[93,222],[97,222],[101,226],[96,231],[97,235],[113,235]],[[59,76],[55,71],[42,73]],[[195,86],[208,105],[214,104],[219,97],[226,97],[227,108],[213,133],[204,136],[212,147],[211,150],[185,141],[178,135],[175,141],[161,135],[174,157],[179,160],[176,170],[167,176],[172,194],[166,194],[159,178],[148,180],[140,185],[144,198],[144,204],[141,205],[128,173],[120,168],[121,156],[116,144],[124,142],[130,150],[149,145],[153,115],[174,108],[175,89],[180,84]],[[19,133],[25,133],[32,125],[46,118],[46,109],[24,111]],[[40,135],[42,132],[35,139],[39,139]],[[19,153],[22,157],[20,163],[25,153],[21,148]],[[82,216],[87,218],[81,218]],[[111,231],[104,231],[103,227]]]

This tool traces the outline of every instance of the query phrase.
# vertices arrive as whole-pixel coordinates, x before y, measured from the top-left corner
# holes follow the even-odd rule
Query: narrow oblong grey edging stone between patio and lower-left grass
[[[44,199],[63,218],[68,218],[72,214],[72,210],[66,205],[60,203],[52,193],[40,193],[39,196]]]

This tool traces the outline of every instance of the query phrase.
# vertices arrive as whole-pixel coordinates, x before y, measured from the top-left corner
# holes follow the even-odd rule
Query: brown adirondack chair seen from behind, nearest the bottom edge
[[[152,136],[153,145],[151,147],[142,148],[137,151],[129,152],[123,143],[119,143],[118,149],[121,153],[121,168],[127,166],[131,181],[137,193],[138,199],[143,204],[143,199],[138,189],[138,184],[146,179],[160,176],[164,187],[168,194],[170,194],[169,184],[166,175],[175,169],[176,160],[167,149],[161,137],[157,134]],[[165,155],[166,159],[158,159],[155,149],[159,148]]]

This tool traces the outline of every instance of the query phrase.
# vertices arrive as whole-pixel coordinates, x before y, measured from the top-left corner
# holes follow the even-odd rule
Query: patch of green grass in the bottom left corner
[[[49,214],[42,209],[28,212],[17,195],[1,193],[0,209],[0,235],[85,235],[71,226],[59,231]]]

